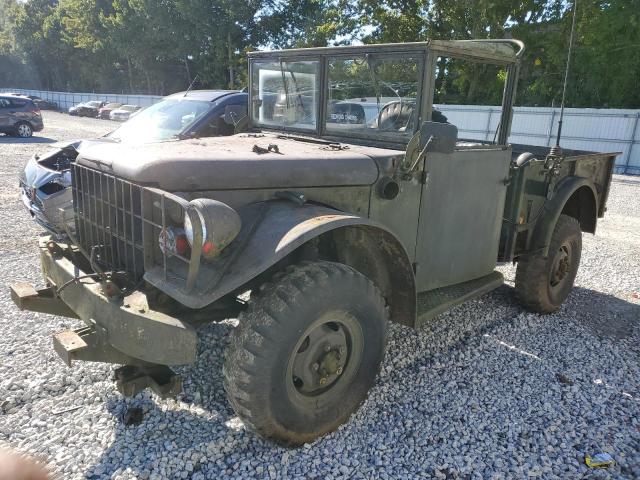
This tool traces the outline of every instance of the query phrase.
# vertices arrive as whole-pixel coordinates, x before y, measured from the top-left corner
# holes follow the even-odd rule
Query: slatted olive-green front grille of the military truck
[[[71,174],[78,246],[100,268],[139,280],[144,274],[143,187],[77,164]]]

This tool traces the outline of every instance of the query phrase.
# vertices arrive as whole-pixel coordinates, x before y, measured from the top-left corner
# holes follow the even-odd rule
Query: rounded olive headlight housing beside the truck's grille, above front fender
[[[240,232],[242,223],[240,215],[229,205],[211,200],[199,198],[189,202],[189,207],[184,216],[184,231],[187,241],[192,248],[201,247],[201,256],[205,260],[217,257],[220,252],[229,245]],[[194,245],[196,238],[192,216],[198,215],[202,228],[202,244]]]

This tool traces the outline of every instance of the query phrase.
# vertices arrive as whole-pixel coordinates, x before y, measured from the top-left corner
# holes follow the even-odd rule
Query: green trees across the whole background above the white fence
[[[246,84],[245,54],[361,41],[519,38],[518,103],[557,105],[565,0],[0,0],[0,86],[167,94]],[[640,107],[640,0],[581,0],[567,102]],[[439,62],[436,95],[496,104],[504,72]]]

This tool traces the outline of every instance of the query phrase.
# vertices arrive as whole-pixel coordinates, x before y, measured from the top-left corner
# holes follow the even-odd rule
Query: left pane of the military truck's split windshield
[[[315,130],[319,62],[259,61],[251,78],[252,119],[256,125]]]

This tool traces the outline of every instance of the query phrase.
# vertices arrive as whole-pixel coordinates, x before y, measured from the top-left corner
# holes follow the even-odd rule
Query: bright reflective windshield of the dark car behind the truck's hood
[[[162,100],[141,110],[108,137],[137,143],[169,140],[202,118],[213,105],[199,100]]]

